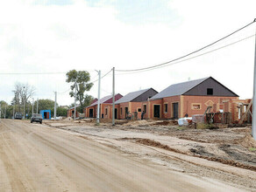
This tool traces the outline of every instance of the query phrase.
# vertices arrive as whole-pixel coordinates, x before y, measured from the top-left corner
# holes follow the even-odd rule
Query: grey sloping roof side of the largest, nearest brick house
[[[187,82],[168,86],[166,89],[164,89],[160,93],[154,95],[151,99],[161,99],[161,98],[172,97],[176,95],[182,95],[183,93],[188,92],[188,90],[192,89],[193,87],[201,84],[206,79],[209,79],[209,78],[190,80]]]

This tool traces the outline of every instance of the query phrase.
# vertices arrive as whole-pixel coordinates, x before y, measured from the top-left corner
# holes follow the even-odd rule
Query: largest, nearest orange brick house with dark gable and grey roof
[[[188,114],[203,114],[208,106],[219,111],[223,101],[237,100],[238,95],[212,77],[168,86],[147,102],[149,119],[178,119]],[[231,109],[229,109],[231,110]]]

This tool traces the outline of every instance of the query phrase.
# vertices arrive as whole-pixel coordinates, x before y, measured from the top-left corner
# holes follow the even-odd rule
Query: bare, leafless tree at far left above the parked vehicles
[[[35,91],[36,88],[34,86],[30,86],[29,84],[23,84],[20,82],[15,83],[13,90],[14,98],[12,99],[12,103],[15,106],[18,106],[18,112],[22,111],[22,106],[26,106]]]

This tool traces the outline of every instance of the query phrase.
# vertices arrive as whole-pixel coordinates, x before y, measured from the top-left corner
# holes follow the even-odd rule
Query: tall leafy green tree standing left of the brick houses
[[[72,83],[70,86],[71,92],[69,93],[70,97],[75,97],[76,90],[76,99],[80,102],[80,112],[82,113],[84,106],[88,105],[92,96],[84,94],[86,91],[89,92],[90,88],[93,86],[93,83],[89,83],[90,76],[89,72],[86,71],[75,71],[71,70],[66,74],[66,82]]]

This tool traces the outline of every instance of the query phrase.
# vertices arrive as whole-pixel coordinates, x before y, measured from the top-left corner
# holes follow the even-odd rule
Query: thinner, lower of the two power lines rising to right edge
[[[256,35],[254,34],[254,35],[251,35],[251,36],[249,36],[249,37],[247,37],[247,38],[242,38],[242,39],[240,39],[240,40],[238,40],[238,41],[235,41],[235,42],[233,42],[233,43],[231,43],[231,44],[218,47],[217,49],[214,49],[214,50],[211,50],[211,51],[203,52],[203,53],[201,53],[201,54],[199,54],[199,55],[196,55],[196,56],[194,56],[194,57],[191,57],[191,58],[186,58],[186,59],[183,59],[183,60],[180,60],[180,61],[176,61],[176,62],[174,62],[174,63],[169,63],[168,65],[174,65],[174,64],[178,64],[178,63],[185,62],[185,61],[190,60],[190,59],[193,59],[193,58],[201,57],[201,56],[206,55],[206,54],[209,54],[209,53],[211,53],[211,52],[224,49],[225,47],[238,44],[238,43],[240,43],[240,42],[242,42],[242,41],[245,41],[245,40],[248,39],[248,38],[252,38],[252,37],[254,37],[254,36],[256,36]],[[157,67],[154,67],[154,68],[150,68],[150,69],[146,69],[146,70],[141,70],[141,71],[137,71],[137,72],[118,73],[118,74],[116,74],[116,75],[125,75],[125,74],[139,73],[139,72],[148,72],[148,71],[151,71],[151,70],[154,70],[154,69],[160,69],[160,68],[165,67],[165,66],[168,66],[168,65],[160,65],[160,66],[157,66]]]

